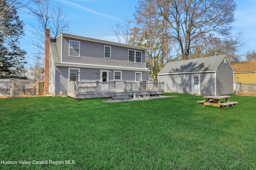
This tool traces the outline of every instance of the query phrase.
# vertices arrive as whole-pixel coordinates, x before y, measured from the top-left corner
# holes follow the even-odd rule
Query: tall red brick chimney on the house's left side
[[[50,29],[44,30],[44,95],[49,94],[50,85]]]

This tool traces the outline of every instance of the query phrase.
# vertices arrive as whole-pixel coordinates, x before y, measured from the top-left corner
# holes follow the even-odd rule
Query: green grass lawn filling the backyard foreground
[[[221,110],[165,95],[177,97],[0,99],[0,169],[256,169],[256,97]]]

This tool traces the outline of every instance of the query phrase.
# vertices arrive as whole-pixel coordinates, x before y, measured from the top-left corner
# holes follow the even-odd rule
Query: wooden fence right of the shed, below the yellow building
[[[256,94],[256,83],[234,83],[234,91],[236,94]]]

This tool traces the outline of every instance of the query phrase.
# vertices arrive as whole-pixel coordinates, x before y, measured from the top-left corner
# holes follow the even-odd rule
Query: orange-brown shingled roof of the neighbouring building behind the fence
[[[234,72],[256,72],[256,61],[231,62]]]

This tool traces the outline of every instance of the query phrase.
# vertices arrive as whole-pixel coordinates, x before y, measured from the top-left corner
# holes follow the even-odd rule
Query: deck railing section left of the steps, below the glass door
[[[116,82],[68,82],[68,92],[80,93],[102,93],[115,92]]]

